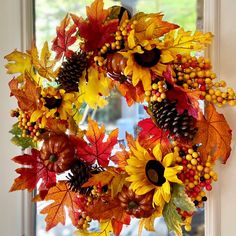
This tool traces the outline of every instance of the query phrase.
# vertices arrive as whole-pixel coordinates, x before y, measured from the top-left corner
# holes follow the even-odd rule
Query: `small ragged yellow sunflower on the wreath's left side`
[[[79,108],[76,98],[76,93],[66,93],[64,89],[45,88],[41,91],[38,109],[32,113],[30,121],[35,122],[41,118],[40,123],[45,127],[47,118],[67,120],[74,114],[73,106]]]

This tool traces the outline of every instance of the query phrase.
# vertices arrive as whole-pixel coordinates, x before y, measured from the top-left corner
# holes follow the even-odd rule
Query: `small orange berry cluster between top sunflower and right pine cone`
[[[158,81],[152,84],[152,90],[145,91],[146,102],[162,102],[166,98],[166,84],[164,81]]]

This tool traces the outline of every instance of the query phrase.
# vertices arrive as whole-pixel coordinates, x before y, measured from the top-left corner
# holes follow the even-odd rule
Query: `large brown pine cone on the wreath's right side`
[[[195,119],[185,110],[179,114],[176,110],[176,102],[164,100],[153,102],[150,106],[156,124],[165,131],[170,131],[176,138],[192,140],[197,132]]]

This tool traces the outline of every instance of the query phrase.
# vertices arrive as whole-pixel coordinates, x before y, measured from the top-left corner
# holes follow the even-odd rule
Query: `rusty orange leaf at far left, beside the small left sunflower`
[[[11,96],[16,97],[20,109],[23,111],[34,111],[37,109],[40,89],[27,74],[24,75],[23,85],[14,78],[9,82],[9,87]]]

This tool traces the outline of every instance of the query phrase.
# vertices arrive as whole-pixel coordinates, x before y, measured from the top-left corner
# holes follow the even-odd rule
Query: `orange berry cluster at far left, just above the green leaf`
[[[22,137],[30,137],[34,142],[37,142],[39,136],[44,132],[37,122],[30,122],[30,114],[22,110],[13,110],[11,116],[18,118],[18,127],[22,130]]]

